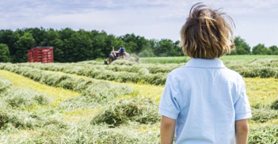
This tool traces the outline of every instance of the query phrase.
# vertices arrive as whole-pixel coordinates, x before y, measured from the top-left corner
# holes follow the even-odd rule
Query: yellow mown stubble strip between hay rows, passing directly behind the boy
[[[77,74],[68,74],[60,71],[48,71],[50,73],[57,74],[67,74],[74,77],[79,78],[90,78],[87,76],[77,75]],[[97,81],[109,81],[109,80],[101,80],[95,79]],[[247,95],[249,96],[249,101],[252,106],[265,106],[271,104],[276,98],[278,98],[278,79],[276,78],[244,78],[246,83]],[[137,95],[139,97],[148,97],[157,102],[160,100],[160,96],[163,92],[164,85],[152,85],[152,84],[140,84],[140,83],[121,83],[116,81],[109,81],[119,85],[129,85],[134,88],[136,93],[127,94],[126,98],[133,97]]]

